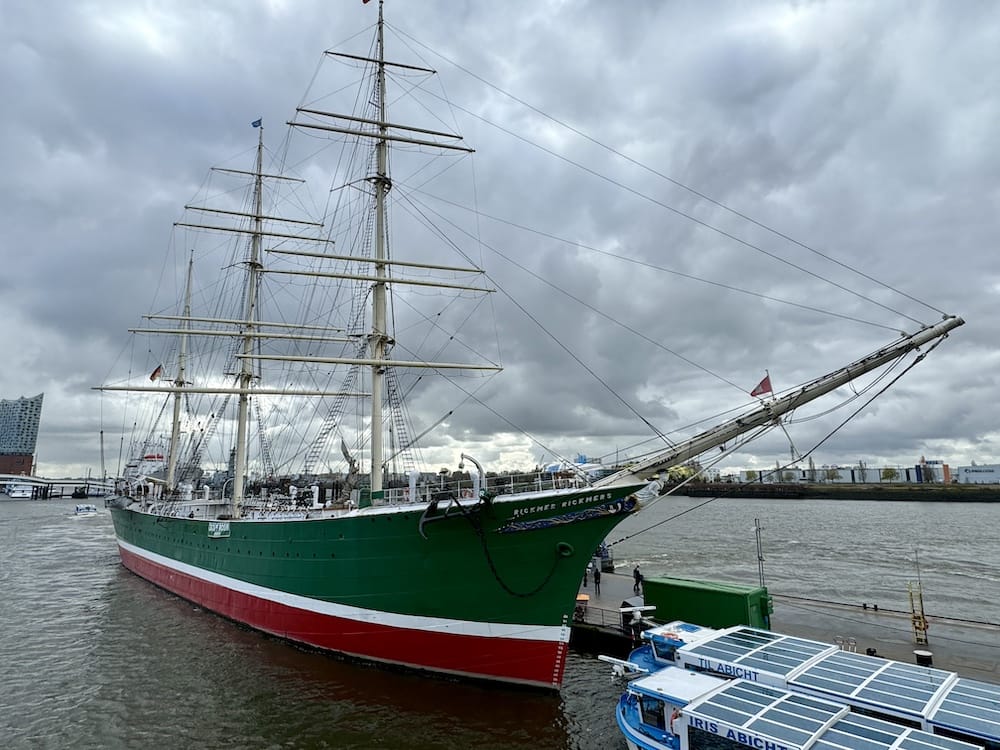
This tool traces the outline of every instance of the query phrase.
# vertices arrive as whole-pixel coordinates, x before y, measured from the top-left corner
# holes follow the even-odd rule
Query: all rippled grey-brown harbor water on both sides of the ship
[[[0,498],[0,747],[625,747],[593,655],[549,695],[306,652],[136,578],[107,511],[73,508]],[[756,584],[755,519],[776,614],[783,595],[907,610],[919,580],[932,622],[1000,623],[1000,503],[667,498],[609,541],[624,572]]]

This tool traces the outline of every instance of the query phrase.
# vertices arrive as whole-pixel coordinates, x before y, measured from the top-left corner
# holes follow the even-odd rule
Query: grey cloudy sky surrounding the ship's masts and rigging
[[[92,387],[122,366],[172,223],[208,167],[246,159],[252,120],[282,137],[324,49],[365,53],[376,15],[361,0],[0,0],[0,396],[44,392],[39,474],[99,471],[99,435],[113,443],[121,420]],[[949,314],[966,325],[813,458],[1000,463],[1000,5],[428,0],[386,15],[390,56],[438,71],[449,127],[476,149],[483,263],[504,290],[505,372],[488,410],[428,437],[432,461],[635,455],[749,405],[765,370],[791,388]],[[853,395],[722,468],[805,453]]]

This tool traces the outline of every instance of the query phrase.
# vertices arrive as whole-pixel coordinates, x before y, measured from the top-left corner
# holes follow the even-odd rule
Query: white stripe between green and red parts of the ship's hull
[[[380,612],[374,609],[363,609],[361,607],[351,607],[345,604],[325,602],[321,599],[312,599],[307,596],[290,594],[284,591],[269,589],[258,586],[255,583],[248,583],[237,578],[213,573],[212,571],[188,565],[177,560],[173,560],[155,552],[136,547],[121,539],[118,546],[131,552],[133,555],[145,558],[157,565],[161,565],[178,573],[197,578],[207,583],[221,586],[231,591],[238,591],[241,594],[264,599],[287,607],[294,607],[308,612],[315,612],[330,617],[340,617],[347,620],[383,625],[391,628],[403,628],[407,630],[424,630],[451,635],[471,635],[478,638],[517,638],[529,641],[565,641],[569,637],[569,628],[545,625],[518,625],[513,623],[497,622],[476,622],[474,620],[449,620],[443,617],[423,617],[420,615],[403,615],[395,612]]]

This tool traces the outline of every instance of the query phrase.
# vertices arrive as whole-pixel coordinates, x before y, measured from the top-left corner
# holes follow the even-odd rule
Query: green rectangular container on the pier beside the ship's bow
[[[684,620],[710,628],[771,627],[774,605],[765,586],[687,578],[646,578],[642,582],[642,593],[646,604],[656,607],[649,614],[657,622]]]

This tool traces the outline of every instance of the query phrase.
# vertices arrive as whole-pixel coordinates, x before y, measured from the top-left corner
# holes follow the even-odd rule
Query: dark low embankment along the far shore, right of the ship
[[[689,497],[767,497],[792,500],[905,500],[926,502],[1000,502],[995,484],[823,484],[729,482],[690,483],[677,490]]]

